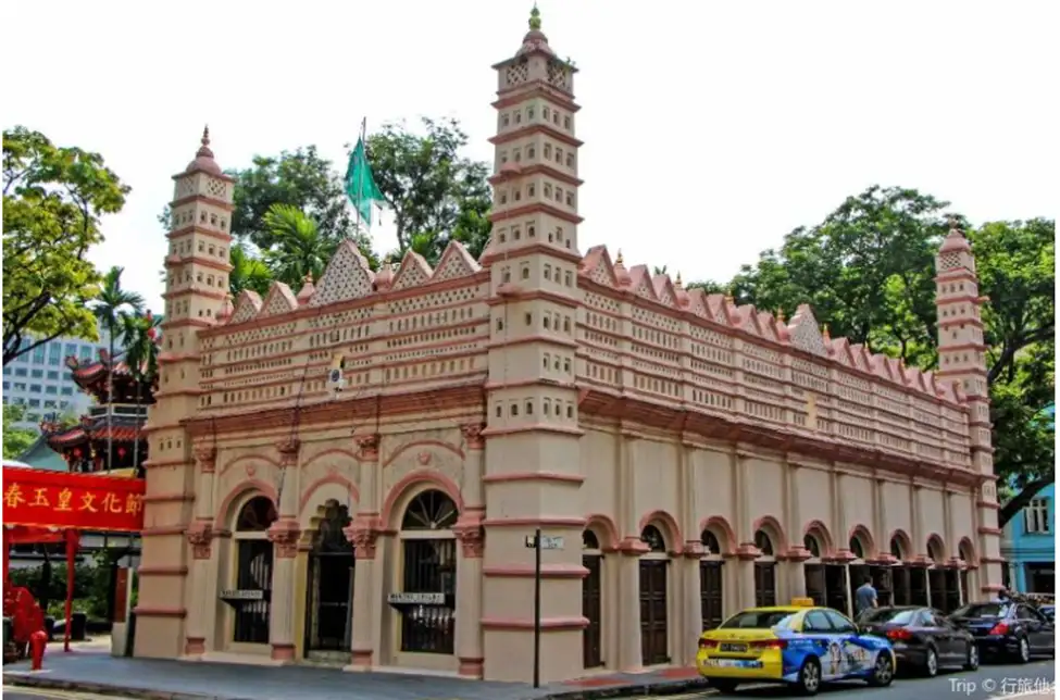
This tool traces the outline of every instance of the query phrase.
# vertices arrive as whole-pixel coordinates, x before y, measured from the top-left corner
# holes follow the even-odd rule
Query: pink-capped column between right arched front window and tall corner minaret
[[[483,551],[485,549],[483,518],[486,505],[483,493],[484,450],[482,437],[485,426],[471,423],[461,426],[466,446],[461,497],[464,510],[453,526],[460,540],[457,571],[457,658],[459,673],[470,678],[483,677]]]

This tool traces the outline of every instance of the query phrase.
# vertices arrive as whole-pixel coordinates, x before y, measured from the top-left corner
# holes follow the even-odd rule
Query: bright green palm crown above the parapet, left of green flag
[[[320,279],[335,243],[321,235],[316,222],[289,204],[273,204],[263,220],[276,245],[265,251],[265,262],[276,279],[299,285],[305,275]]]

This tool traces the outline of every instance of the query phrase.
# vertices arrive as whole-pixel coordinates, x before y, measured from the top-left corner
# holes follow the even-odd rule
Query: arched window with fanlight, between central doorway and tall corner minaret
[[[457,504],[436,489],[412,499],[401,520],[401,651],[451,654],[456,636]]]

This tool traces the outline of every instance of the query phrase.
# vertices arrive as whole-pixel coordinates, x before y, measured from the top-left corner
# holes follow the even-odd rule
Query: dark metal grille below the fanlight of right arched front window
[[[403,541],[406,593],[444,593],[438,605],[414,604],[400,611],[401,651],[451,654],[456,636],[457,540]]]

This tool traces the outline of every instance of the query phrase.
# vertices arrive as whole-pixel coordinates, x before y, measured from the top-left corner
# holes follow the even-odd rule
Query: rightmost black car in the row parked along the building
[[[1031,657],[1056,653],[1052,622],[1026,603],[971,603],[953,611],[949,621],[972,633],[982,659],[1026,663]]]

